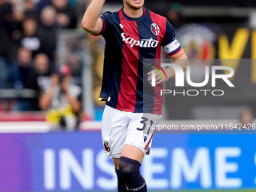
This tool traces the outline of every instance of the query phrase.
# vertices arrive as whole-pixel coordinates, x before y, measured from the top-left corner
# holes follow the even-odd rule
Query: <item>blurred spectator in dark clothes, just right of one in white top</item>
[[[48,5],[40,14],[40,31],[42,33],[41,50],[47,54],[52,62],[56,50],[56,10]]]

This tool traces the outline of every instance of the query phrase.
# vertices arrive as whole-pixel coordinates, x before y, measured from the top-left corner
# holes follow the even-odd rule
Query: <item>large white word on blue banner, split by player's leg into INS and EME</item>
[[[209,148],[195,148],[192,157],[188,154],[186,148],[152,148],[151,155],[145,157],[142,163],[142,175],[148,188],[181,189],[187,183],[199,184],[205,189],[242,187],[242,178],[232,177],[238,172],[239,165],[235,159],[230,160],[240,157],[241,148],[212,149],[212,162]],[[74,190],[74,182],[80,184],[81,190],[116,190],[114,167],[111,159],[105,157],[104,150],[84,148],[78,158],[78,154],[72,153],[71,149],[47,148],[43,155],[45,190]],[[254,161],[256,164],[256,154]],[[212,184],[213,181],[215,184]]]

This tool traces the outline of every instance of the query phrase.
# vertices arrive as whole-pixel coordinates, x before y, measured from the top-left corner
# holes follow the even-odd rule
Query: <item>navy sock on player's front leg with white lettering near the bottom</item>
[[[139,171],[140,166],[141,163],[137,160],[120,157],[119,169],[123,180],[126,183],[127,191],[147,191],[147,184]]]

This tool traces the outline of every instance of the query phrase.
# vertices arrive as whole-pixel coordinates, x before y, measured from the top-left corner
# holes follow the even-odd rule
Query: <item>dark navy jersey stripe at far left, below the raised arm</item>
[[[105,17],[110,16],[113,18]],[[123,41],[118,41],[116,38],[122,31],[116,30],[110,27],[112,22],[120,23],[120,18],[117,12],[114,14],[103,14],[101,16],[105,23],[105,29],[102,31],[102,36],[105,38],[105,53],[104,53],[104,66],[103,66],[103,78],[102,78],[102,90],[99,98],[105,98],[109,106],[117,108],[117,99],[120,91],[120,81],[122,75],[122,62],[123,62]],[[119,24],[117,25],[118,27]],[[113,51],[114,50],[114,51]]]

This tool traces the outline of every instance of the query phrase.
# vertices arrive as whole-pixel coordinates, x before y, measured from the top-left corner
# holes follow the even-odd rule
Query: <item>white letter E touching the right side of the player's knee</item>
[[[166,178],[154,178],[154,174],[163,174],[166,172],[166,166],[163,163],[155,163],[154,159],[164,159],[168,155],[166,148],[152,148],[151,154],[144,158],[142,172],[147,185],[151,189],[168,188],[168,180]]]

